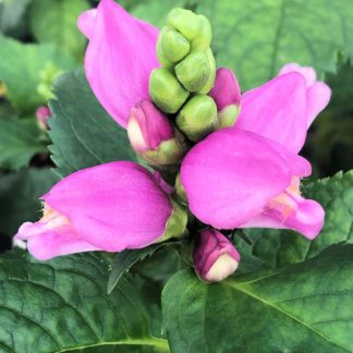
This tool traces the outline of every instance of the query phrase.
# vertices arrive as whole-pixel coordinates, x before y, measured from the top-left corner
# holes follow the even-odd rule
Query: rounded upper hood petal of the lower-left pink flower
[[[68,217],[83,240],[109,252],[156,242],[173,210],[153,174],[133,162],[75,172],[42,199]]]

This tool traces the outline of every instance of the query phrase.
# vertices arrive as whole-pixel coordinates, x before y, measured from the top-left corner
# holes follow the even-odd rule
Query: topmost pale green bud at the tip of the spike
[[[191,44],[192,51],[205,51],[211,41],[212,33],[208,20],[190,10],[173,9],[167,25],[179,31]]]

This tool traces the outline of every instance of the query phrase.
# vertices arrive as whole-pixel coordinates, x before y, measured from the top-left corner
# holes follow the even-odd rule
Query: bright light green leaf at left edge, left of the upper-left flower
[[[8,89],[13,106],[24,112],[45,104],[37,93],[40,73],[53,65],[73,69],[73,60],[51,45],[22,44],[0,34],[0,81]]]

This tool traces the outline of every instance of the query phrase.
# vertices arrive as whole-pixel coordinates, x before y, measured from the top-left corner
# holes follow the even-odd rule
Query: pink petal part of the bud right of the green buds
[[[217,70],[215,85],[209,96],[216,101],[219,111],[230,105],[240,106],[241,89],[233,71],[226,68]]]

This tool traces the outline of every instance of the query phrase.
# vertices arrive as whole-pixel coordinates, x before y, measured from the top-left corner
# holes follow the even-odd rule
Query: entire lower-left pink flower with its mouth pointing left
[[[173,211],[169,196],[145,168],[111,162],[77,171],[44,195],[44,217],[24,223],[38,259],[87,251],[120,252],[158,241]]]

